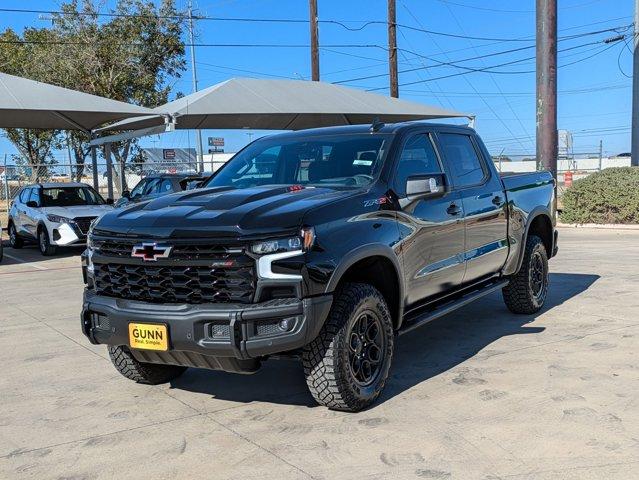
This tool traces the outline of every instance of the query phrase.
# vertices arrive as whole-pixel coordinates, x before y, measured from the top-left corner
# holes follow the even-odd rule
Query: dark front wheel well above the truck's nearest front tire
[[[359,260],[344,272],[336,289],[347,282],[366,283],[379,290],[388,304],[393,325],[397,328],[400,320],[399,275],[391,260],[380,255]]]

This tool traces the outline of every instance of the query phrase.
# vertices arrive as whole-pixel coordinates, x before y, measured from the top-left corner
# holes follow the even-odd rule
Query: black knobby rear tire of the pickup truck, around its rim
[[[535,262],[543,268],[542,289],[536,294],[533,285]],[[538,263],[539,265],[539,263]],[[519,271],[510,277],[510,283],[502,289],[504,302],[513,313],[533,314],[541,310],[548,294],[548,253],[536,235],[526,239],[526,250]]]

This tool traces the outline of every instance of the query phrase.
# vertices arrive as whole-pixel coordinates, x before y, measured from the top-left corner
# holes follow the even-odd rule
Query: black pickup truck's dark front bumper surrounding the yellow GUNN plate
[[[98,296],[85,289],[82,332],[93,344],[129,345],[129,323],[164,324],[169,350],[131,349],[138,360],[250,372],[261,357],[295,350],[313,340],[332,300],[332,295],[322,295],[249,305],[153,304]]]

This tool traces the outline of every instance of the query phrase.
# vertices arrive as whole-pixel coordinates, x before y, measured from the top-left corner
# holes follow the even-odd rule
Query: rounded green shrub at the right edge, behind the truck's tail
[[[562,203],[565,223],[639,223],[639,167],[607,168],[576,180]]]

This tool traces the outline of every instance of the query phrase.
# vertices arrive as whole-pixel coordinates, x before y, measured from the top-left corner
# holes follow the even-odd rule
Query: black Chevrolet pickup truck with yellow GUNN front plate
[[[550,173],[501,177],[467,127],[265,137],[202,189],[92,225],[82,330],[140,383],[301,358],[318,403],[358,411],[397,335],[498,289],[542,308],[554,219]]]

